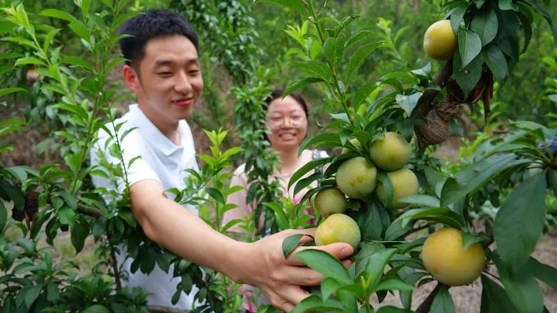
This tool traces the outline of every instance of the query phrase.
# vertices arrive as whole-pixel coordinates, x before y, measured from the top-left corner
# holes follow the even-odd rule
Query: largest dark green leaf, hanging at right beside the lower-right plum
[[[545,173],[519,184],[503,202],[494,222],[494,239],[505,264],[521,268],[534,251],[545,221]]]

